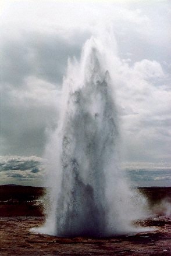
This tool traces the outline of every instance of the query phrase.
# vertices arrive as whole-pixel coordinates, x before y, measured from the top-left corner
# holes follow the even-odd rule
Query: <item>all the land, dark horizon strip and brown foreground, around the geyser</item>
[[[147,195],[154,215],[137,225],[155,230],[131,236],[71,239],[30,232],[31,227],[41,226],[45,221],[41,201],[44,189],[19,187],[0,187],[0,255],[171,255],[170,188],[140,189]],[[4,200],[3,191],[7,190],[10,196]],[[15,196],[13,191],[18,191]],[[19,200],[17,193],[21,191],[23,199]],[[24,193],[32,199],[28,200]]]

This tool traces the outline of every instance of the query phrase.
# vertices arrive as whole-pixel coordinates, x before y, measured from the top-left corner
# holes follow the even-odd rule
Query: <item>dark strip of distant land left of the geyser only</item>
[[[43,216],[44,194],[42,187],[0,186],[0,217]]]

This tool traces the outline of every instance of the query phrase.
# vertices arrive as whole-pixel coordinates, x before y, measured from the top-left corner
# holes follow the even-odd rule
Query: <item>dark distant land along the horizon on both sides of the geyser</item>
[[[166,199],[171,204],[171,187],[139,187],[140,193],[147,197],[149,207],[156,213],[165,212]],[[44,198],[48,189],[44,187],[20,186],[15,184],[0,186],[0,216],[45,216]],[[161,206],[160,206],[161,204]]]

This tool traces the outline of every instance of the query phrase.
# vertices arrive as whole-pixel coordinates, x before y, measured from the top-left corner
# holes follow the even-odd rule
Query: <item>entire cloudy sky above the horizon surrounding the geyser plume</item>
[[[158,170],[150,184],[169,186],[170,19],[165,0],[1,0],[0,184],[41,186],[68,58],[79,59],[85,41],[110,27],[119,60],[120,161],[141,176]]]

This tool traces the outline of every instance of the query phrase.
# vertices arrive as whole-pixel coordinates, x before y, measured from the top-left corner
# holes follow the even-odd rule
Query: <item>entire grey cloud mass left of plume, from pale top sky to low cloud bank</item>
[[[61,88],[67,59],[79,57],[87,37],[77,32],[77,41],[76,32],[70,40],[56,33],[22,29],[18,29],[16,37],[10,38],[10,33],[2,36],[0,155],[44,152],[47,129],[54,129],[58,123],[55,94]]]

